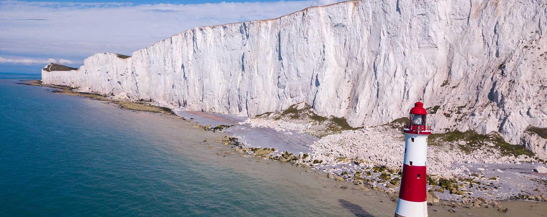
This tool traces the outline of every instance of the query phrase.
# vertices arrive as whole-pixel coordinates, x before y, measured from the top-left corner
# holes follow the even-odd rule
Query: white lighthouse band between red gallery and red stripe
[[[403,163],[410,166],[426,166],[427,137],[429,135],[408,133],[405,133],[405,135],[405,159]],[[412,141],[412,138],[414,138],[414,141]]]

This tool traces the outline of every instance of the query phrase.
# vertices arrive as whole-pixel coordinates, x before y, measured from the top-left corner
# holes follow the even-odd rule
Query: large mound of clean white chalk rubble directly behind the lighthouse
[[[464,141],[461,141],[464,142]],[[313,157],[327,164],[365,162],[389,168],[399,168],[404,158],[404,136],[399,129],[377,126],[347,130],[328,135],[311,144]],[[457,146],[428,146],[427,168],[429,174],[441,177],[461,176],[469,170],[452,166],[462,163],[537,162],[526,155],[503,156],[499,149],[485,147],[465,153]]]

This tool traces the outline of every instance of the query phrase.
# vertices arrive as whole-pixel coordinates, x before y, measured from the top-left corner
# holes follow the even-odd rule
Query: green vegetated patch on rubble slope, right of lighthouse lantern
[[[517,144],[509,144],[497,133],[491,133],[487,135],[479,134],[473,130],[462,131],[448,131],[443,134],[431,134],[428,138],[428,144],[432,146],[443,146],[444,144],[456,144],[459,149],[469,154],[476,149],[488,146],[487,143],[492,143],[493,148],[499,148],[502,154],[505,156],[513,155],[528,155],[533,156],[534,153],[527,150],[523,146]],[[465,141],[465,144],[458,144],[459,141]]]

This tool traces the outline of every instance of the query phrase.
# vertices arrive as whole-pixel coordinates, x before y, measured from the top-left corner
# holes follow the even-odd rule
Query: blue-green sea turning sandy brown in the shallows
[[[325,173],[217,155],[222,144],[203,140],[224,134],[177,117],[15,82],[0,79],[2,216],[393,216],[389,197],[340,189],[317,178]],[[506,204],[508,213],[448,213],[446,207],[429,212],[547,213],[545,203]]]

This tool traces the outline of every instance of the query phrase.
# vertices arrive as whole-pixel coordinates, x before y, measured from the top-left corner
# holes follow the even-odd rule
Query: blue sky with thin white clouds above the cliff
[[[50,62],[79,68],[100,52],[131,55],[185,29],[263,20],[340,0],[0,1],[0,73]]]

